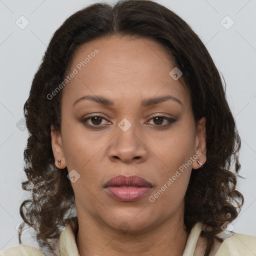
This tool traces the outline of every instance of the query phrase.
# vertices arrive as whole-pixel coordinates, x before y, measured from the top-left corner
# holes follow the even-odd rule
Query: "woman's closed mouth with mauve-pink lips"
[[[115,176],[104,185],[108,195],[119,201],[135,201],[149,193],[153,185],[139,176]]]

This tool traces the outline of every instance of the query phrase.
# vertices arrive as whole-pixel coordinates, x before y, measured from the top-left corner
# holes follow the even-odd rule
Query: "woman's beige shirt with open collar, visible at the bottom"
[[[200,235],[201,223],[196,223],[191,229],[182,256],[203,256],[205,240]],[[256,236],[221,232],[219,237],[223,238],[222,243],[216,242],[210,256],[255,256],[256,255]],[[72,229],[67,225],[60,233],[58,245],[55,253],[59,256],[79,256],[75,243],[75,236]],[[0,252],[0,256],[44,256],[43,252],[25,244]],[[158,255],[157,255],[158,256]]]

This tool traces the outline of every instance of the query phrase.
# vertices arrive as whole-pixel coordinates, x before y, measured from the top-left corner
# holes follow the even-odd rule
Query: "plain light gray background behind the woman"
[[[20,186],[28,137],[27,130],[22,131],[23,105],[33,75],[53,32],[70,14],[94,2],[0,0],[0,251],[18,245],[15,226],[21,221],[19,205],[26,197]],[[233,231],[256,235],[256,0],[157,2],[191,26],[224,76],[227,100],[241,137],[241,175],[245,177],[238,181],[245,203],[232,223]],[[24,29],[15,24],[21,15],[29,21]],[[234,21],[229,29],[220,23],[226,15]],[[230,24],[230,20],[224,22]],[[32,244],[31,239],[26,244]]]

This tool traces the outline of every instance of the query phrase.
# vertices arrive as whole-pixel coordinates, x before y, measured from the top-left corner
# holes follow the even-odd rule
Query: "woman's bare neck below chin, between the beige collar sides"
[[[144,232],[113,229],[88,215],[79,216],[78,212],[77,218],[76,245],[80,256],[181,256],[188,236],[183,218],[171,217]]]

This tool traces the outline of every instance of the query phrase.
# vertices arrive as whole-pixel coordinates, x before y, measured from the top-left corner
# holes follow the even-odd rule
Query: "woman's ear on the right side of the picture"
[[[195,135],[195,154],[197,155],[197,159],[202,164],[206,162],[206,128],[205,128],[205,117],[203,116],[200,120],[198,120],[196,124],[196,135]],[[197,161],[193,161],[192,168],[198,169],[200,168],[200,164]]]

